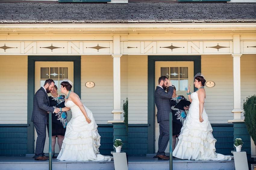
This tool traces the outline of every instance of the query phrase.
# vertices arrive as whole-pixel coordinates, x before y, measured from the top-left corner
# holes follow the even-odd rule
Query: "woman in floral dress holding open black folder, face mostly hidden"
[[[187,101],[184,102],[184,100],[187,100],[184,96],[179,96],[176,94],[176,87],[174,87],[173,90],[173,96],[172,99],[170,99],[170,105],[172,109],[172,116],[173,116],[173,137],[172,137],[172,149],[175,149],[176,145],[176,137],[179,137],[180,135],[180,129],[183,126],[184,121],[186,120],[186,112],[185,110],[189,109],[189,104]],[[180,103],[180,104],[178,104]]]

